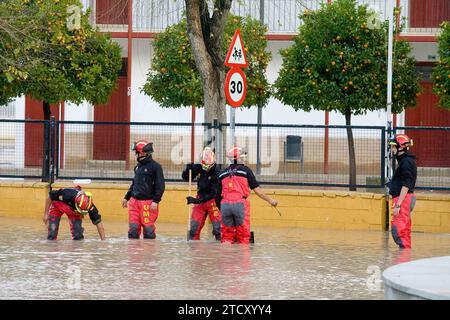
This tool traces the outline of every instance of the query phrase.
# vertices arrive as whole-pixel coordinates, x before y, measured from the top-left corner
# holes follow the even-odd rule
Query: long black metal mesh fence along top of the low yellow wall
[[[385,128],[351,129],[356,187],[384,188]],[[418,137],[418,189],[450,190],[450,154],[436,147],[450,145],[450,128],[395,130]],[[230,126],[196,124],[194,132],[194,161],[199,161],[203,146],[209,144],[217,149],[218,162],[226,165],[225,152],[233,144]],[[191,136],[191,123],[0,120],[0,177],[130,181],[136,164],[130,146],[148,139],[154,143],[154,158],[161,163],[166,180],[181,181],[183,168],[191,162]],[[236,124],[234,136],[247,149],[246,164],[262,184],[349,186],[346,126]],[[423,150],[428,146],[434,152]]]

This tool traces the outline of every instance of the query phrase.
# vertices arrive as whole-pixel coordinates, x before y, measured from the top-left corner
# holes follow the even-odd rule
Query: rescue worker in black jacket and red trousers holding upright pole
[[[216,164],[214,151],[206,147],[202,152],[201,163],[186,166],[181,174],[185,181],[189,181],[189,170],[192,170],[192,180],[197,179],[197,197],[186,198],[188,204],[194,204],[189,240],[200,240],[200,232],[208,216],[213,226],[212,233],[216,240],[220,240],[220,211],[215,200],[220,171]]]

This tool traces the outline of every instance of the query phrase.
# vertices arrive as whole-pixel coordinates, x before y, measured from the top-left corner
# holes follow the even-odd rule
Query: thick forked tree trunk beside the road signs
[[[212,16],[205,0],[185,0],[185,2],[187,33],[202,80],[204,121],[212,123],[214,119],[217,119],[219,123],[226,123],[225,66],[223,65],[225,57],[222,39],[231,0],[215,2]],[[225,138],[226,131],[222,130],[222,150],[216,150],[219,152],[219,163],[221,158],[224,161]]]

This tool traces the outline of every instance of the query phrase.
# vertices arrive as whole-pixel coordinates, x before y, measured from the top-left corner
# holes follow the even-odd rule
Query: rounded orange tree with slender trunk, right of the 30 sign
[[[355,0],[337,0],[306,11],[294,44],[281,52],[275,96],[295,110],[337,111],[345,116],[350,190],[356,190],[351,116],[386,108],[387,23],[373,27],[373,13]],[[407,42],[395,42],[393,112],[415,104],[420,91]]]

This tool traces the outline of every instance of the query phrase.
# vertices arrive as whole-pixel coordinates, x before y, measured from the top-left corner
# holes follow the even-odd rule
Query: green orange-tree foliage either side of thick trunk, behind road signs
[[[224,57],[237,28],[241,30],[249,63],[248,68],[243,69],[247,78],[247,94],[243,106],[264,106],[271,94],[265,76],[271,59],[270,52],[265,51],[266,27],[249,17],[229,15],[224,33]],[[186,20],[183,19],[158,34],[153,47],[152,66],[142,91],[162,107],[202,107],[203,87],[187,36]],[[228,70],[226,68],[226,71]]]

